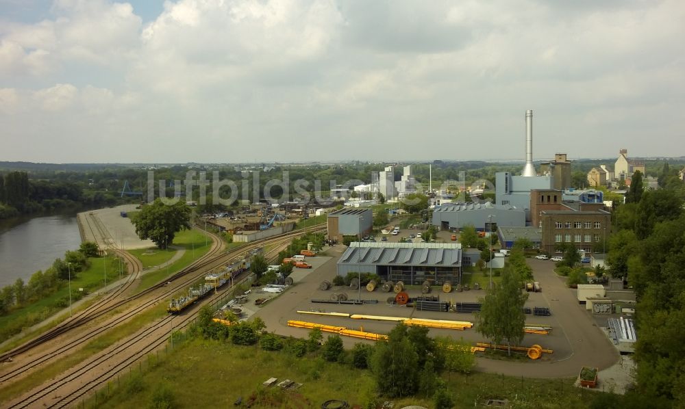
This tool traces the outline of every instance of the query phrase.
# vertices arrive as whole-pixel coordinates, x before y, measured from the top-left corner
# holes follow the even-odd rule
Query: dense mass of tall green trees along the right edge
[[[661,188],[645,190],[634,174],[607,255],[636,293],[637,388],[653,408],[685,405],[685,185],[674,176],[665,165]]]

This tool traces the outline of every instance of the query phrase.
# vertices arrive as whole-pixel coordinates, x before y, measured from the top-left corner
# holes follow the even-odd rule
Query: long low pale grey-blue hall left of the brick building
[[[492,217],[490,217],[492,216]],[[493,226],[490,226],[492,220]],[[525,212],[510,205],[480,203],[445,203],[433,209],[434,226],[442,230],[460,229],[469,224],[477,230],[497,230],[497,226],[525,226]]]

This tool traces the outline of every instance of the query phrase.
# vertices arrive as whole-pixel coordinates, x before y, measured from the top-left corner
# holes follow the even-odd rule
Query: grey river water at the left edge
[[[36,271],[80,245],[75,213],[0,220],[0,287],[17,278],[28,282]]]

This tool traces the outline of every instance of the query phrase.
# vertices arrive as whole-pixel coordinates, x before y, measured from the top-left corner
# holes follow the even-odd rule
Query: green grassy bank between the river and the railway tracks
[[[113,282],[119,278],[119,262],[113,256],[108,257],[93,257],[88,259],[90,267],[83,272],[73,273],[71,275],[71,289],[72,289],[72,303],[77,300],[79,289],[84,289],[82,293],[90,293],[97,291],[105,285],[105,269],[107,272],[107,282]],[[96,302],[89,300],[86,304],[80,305],[74,312],[85,308],[85,306]],[[31,304],[27,304],[22,308],[18,308],[8,315],[0,317],[0,341],[9,339],[14,334],[21,332],[23,328],[29,328],[38,324],[45,319],[49,319],[56,313],[60,315],[55,316],[53,321],[47,326],[51,328],[59,324],[62,320],[69,316],[69,282],[62,282],[58,291],[36,300]],[[25,341],[28,337],[34,336],[38,331],[42,332],[45,328],[37,331],[28,332],[21,339],[16,339],[12,343],[5,345],[2,350],[8,350]]]

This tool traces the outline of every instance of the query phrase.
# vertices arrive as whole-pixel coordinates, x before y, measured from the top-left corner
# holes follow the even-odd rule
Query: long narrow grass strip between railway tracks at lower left
[[[21,381],[0,388],[0,402],[13,399],[25,391],[40,386],[67,369],[74,367],[79,362],[83,362],[98,352],[103,351],[103,349],[110,347],[110,345],[116,343],[120,339],[134,334],[141,328],[147,326],[150,321],[163,317],[164,315],[166,315],[166,305],[163,303],[154,306],[150,310],[145,311],[145,313],[136,315],[125,324],[116,326],[115,328],[104,332],[96,339],[89,341],[84,347],[73,354],[62,356],[59,360],[55,360],[49,365],[42,367],[40,371],[35,371],[34,373],[27,375]]]

